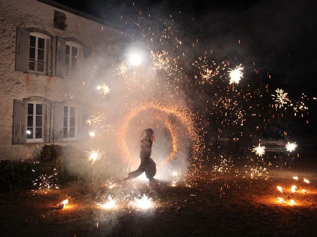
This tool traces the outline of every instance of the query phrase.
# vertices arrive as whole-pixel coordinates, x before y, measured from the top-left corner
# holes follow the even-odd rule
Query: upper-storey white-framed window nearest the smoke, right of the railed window
[[[66,42],[65,75],[78,76],[80,70],[81,46],[74,42]]]

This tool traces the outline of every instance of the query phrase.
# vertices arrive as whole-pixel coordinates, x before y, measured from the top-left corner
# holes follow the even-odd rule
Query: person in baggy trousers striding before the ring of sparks
[[[143,172],[145,172],[145,175],[151,182],[155,181],[154,176],[157,173],[157,167],[156,163],[150,157],[152,152],[152,144],[155,141],[153,134],[154,131],[151,128],[147,128],[142,131],[140,152],[141,164],[137,170],[128,173],[128,177],[125,178],[124,181],[134,179]]]

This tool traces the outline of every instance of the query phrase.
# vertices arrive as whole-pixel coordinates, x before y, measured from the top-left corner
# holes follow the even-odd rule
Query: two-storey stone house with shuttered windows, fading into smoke
[[[45,143],[84,149],[92,91],[131,38],[52,0],[0,1],[0,159]]]

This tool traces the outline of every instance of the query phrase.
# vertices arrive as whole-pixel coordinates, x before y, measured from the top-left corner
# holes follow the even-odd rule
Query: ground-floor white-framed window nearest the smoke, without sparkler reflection
[[[77,139],[77,107],[64,106],[63,117],[63,140],[76,140]]]

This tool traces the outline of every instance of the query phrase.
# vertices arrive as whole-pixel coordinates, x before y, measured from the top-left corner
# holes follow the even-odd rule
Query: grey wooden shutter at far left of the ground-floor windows
[[[13,136],[12,144],[24,144],[26,139],[26,104],[22,100],[13,100]]]

